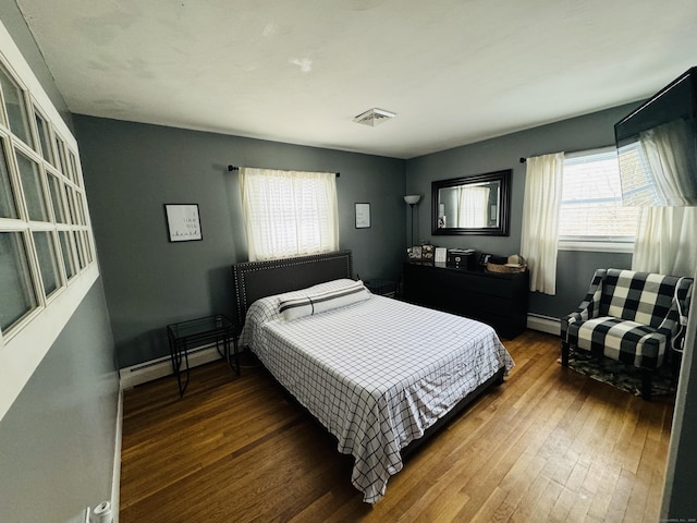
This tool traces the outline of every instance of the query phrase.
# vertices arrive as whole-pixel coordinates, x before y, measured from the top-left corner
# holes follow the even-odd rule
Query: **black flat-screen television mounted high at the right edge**
[[[697,66],[614,125],[623,205],[697,205]]]

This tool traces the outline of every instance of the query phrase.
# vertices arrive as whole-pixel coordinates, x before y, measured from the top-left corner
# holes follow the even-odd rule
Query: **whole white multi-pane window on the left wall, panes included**
[[[93,242],[77,142],[0,31],[0,419],[98,278]]]

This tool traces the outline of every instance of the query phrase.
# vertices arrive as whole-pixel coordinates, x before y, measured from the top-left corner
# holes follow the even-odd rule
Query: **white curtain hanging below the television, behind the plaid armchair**
[[[697,207],[644,207],[632,270],[692,278],[697,260],[695,239]]]

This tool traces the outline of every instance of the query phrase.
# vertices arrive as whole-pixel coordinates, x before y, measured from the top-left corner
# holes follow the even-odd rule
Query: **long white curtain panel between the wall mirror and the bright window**
[[[562,203],[564,153],[527,158],[521,255],[530,271],[530,291],[557,292],[557,235]]]

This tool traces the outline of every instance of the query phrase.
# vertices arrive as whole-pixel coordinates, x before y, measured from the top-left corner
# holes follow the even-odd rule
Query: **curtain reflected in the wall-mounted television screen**
[[[661,206],[693,205],[697,195],[690,181],[695,163],[688,123],[684,120],[645,131],[639,142],[649,163],[649,175]],[[685,156],[685,155],[688,156]]]

